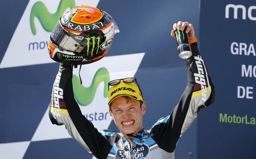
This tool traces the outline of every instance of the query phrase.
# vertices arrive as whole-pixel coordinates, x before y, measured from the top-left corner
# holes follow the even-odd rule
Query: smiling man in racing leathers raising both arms
[[[49,116],[53,124],[65,125],[68,133],[98,159],[174,159],[179,138],[190,127],[200,108],[214,101],[214,87],[196,43],[193,25],[179,21],[175,31],[187,27],[192,56],[186,60],[188,85],[171,114],[144,129],[146,102],[134,78],[109,82],[108,105],[111,118],[123,136],[111,130],[97,130],[81,113],[73,96],[73,65],[61,63],[57,74]],[[135,81],[135,83],[134,83]],[[56,112],[59,114],[56,115]]]

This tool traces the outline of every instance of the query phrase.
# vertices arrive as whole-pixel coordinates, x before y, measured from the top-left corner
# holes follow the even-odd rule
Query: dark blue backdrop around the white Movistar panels
[[[8,46],[15,48],[9,43],[28,4],[29,0],[2,2],[0,61]],[[97,4],[97,8],[113,17],[120,29],[107,56],[145,53],[135,77],[147,103],[143,122],[147,129],[170,114],[186,88],[185,60],[178,57],[176,42],[170,34],[173,23],[179,20],[193,24],[201,55],[216,89],[216,100],[198,113],[198,118],[180,139],[175,150],[177,159],[256,157],[256,125],[253,124],[256,118],[253,92],[256,10],[253,5],[253,1],[241,0],[100,0]],[[30,39],[24,34],[20,40]],[[15,50],[25,55],[19,48]],[[58,66],[58,63],[44,63],[0,67],[0,149],[6,147],[8,151],[11,144],[24,143],[27,146],[24,150],[15,146],[12,150],[19,151],[19,158],[91,158],[72,138],[31,141],[49,106]],[[244,117],[244,122],[238,123],[238,117]],[[106,129],[118,131],[114,122]],[[0,158],[10,157],[0,154]]]

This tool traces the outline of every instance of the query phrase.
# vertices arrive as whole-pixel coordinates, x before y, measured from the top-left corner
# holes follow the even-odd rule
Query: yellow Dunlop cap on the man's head
[[[108,105],[119,96],[127,96],[134,100],[143,101],[139,87],[135,83],[124,83],[121,81],[119,84],[110,87],[108,90]]]

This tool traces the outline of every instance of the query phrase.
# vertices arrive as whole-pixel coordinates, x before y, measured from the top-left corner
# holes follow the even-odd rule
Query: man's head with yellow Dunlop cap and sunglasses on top
[[[125,138],[134,139],[131,134],[143,130],[142,119],[146,111],[140,87],[135,78],[110,81],[108,91],[109,114]],[[138,84],[138,83],[137,83]]]

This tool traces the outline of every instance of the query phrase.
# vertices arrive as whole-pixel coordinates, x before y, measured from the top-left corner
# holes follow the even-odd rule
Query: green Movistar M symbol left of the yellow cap
[[[92,102],[95,96],[96,89],[101,82],[104,82],[103,96],[107,98],[108,97],[108,81],[109,81],[109,73],[107,69],[104,67],[97,70],[97,72],[93,77],[91,85],[89,87],[84,87],[83,85],[81,85],[79,77],[77,77],[76,75],[73,75],[73,78],[72,78],[73,92],[74,92],[74,97],[76,101],[81,106],[89,105]]]

